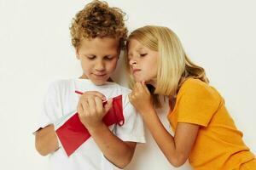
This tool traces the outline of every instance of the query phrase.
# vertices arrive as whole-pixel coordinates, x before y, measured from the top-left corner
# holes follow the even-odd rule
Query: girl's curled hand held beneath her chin
[[[144,82],[136,82],[131,94],[129,94],[129,99],[142,115],[154,110],[151,94]]]

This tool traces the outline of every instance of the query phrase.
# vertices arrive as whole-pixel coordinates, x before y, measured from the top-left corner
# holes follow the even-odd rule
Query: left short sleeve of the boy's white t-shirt
[[[58,98],[57,83],[50,84],[47,93],[44,96],[43,109],[38,114],[38,121],[34,129],[37,131],[39,128],[44,128],[49,124],[53,124],[58,115],[61,114],[61,101]]]

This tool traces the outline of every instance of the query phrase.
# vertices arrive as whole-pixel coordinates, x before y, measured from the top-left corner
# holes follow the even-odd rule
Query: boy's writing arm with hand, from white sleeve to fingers
[[[78,104],[79,119],[102,150],[103,155],[117,167],[123,168],[130,163],[136,143],[122,141],[102,122],[102,117],[111,107],[112,99],[103,106],[102,97],[84,93]]]

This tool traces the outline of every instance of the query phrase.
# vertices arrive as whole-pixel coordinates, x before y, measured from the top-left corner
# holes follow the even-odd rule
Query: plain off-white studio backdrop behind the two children
[[[79,77],[71,45],[71,20],[90,1],[0,0],[0,169],[48,169],[47,156],[34,148],[34,123],[44,94],[56,79]],[[207,71],[224,96],[243,139],[256,153],[256,3],[251,0],[109,0],[126,13],[129,31],[144,25],[168,26],[189,57]],[[126,86],[123,60],[113,79]],[[160,112],[165,117],[166,107]],[[170,126],[166,123],[166,128]],[[169,170],[146,129],[129,170]],[[206,153],[207,154],[207,153]],[[191,169],[188,163],[178,169]]]

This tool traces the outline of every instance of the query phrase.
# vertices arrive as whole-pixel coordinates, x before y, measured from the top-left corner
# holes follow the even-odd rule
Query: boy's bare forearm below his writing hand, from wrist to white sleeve
[[[114,165],[124,168],[130,163],[136,143],[122,141],[104,123],[98,127],[88,128],[88,130],[104,156]]]

